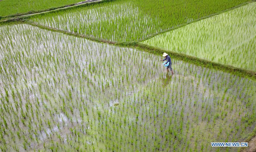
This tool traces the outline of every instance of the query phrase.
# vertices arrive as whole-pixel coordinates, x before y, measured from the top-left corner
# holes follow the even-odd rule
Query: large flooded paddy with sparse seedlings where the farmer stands
[[[253,79],[27,24],[0,26],[1,151],[236,151]]]

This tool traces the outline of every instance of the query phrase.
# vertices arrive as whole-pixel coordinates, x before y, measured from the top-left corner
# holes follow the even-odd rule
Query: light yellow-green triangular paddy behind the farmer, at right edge
[[[144,44],[256,71],[255,6],[232,11],[160,34]]]

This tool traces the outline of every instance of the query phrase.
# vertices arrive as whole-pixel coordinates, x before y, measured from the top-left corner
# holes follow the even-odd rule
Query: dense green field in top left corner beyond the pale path
[[[81,2],[82,0],[1,0],[0,17],[39,11]]]

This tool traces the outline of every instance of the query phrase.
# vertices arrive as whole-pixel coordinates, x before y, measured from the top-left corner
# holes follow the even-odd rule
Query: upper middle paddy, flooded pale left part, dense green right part
[[[111,1],[32,17],[38,24],[109,41],[135,41],[242,1]]]

